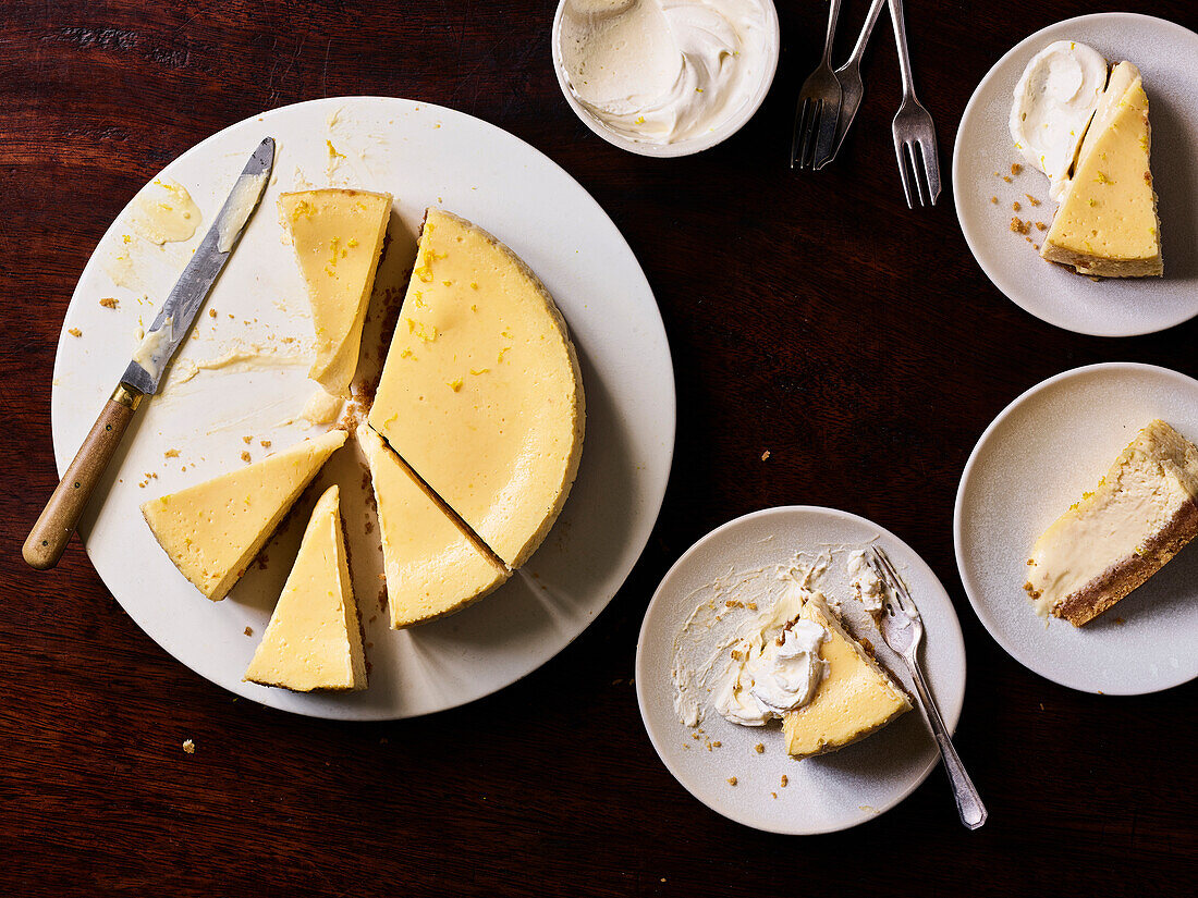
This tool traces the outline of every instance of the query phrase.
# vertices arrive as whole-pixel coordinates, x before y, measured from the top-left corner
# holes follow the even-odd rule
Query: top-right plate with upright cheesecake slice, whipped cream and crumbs
[[[1099,336],[1198,314],[1198,35],[1133,13],[1057,23],[1006,53],[957,131],[954,200],[993,284]]]

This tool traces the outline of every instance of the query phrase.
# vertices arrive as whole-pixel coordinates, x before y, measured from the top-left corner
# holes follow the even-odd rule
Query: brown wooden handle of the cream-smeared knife
[[[22,556],[30,568],[44,571],[59,563],[140,402],[141,394],[122,383],[104,405],[25,540]]]

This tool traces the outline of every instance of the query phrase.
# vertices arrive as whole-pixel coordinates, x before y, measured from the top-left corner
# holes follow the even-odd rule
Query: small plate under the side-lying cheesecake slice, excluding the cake
[[[1154,418],[1198,438],[1198,381],[1126,362],[1077,368],[1004,408],[961,475],[954,540],[974,611],[1011,657],[1070,688],[1142,694],[1198,676],[1196,546],[1084,627],[1046,626],[1023,591],[1040,534]]]

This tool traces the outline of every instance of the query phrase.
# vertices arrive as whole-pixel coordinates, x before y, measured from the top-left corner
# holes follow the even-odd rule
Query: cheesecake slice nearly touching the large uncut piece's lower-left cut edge
[[[374,483],[392,627],[460,611],[512,576],[368,424],[357,437]]]

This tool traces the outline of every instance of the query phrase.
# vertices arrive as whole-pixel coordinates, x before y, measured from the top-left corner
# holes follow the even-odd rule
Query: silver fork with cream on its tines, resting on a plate
[[[936,706],[932,691],[924,679],[918,657],[920,643],[924,641],[924,621],[919,617],[919,609],[912,601],[910,593],[907,591],[907,584],[902,582],[902,577],[890,564],[885,550],[881,546],[870,546],[865,557],[875,574],[890,588],[883,603],[885,614],[882,615],[882,638],[902,657],[907,663],[907,669],[910,671],[910,679],[915,684],[916,704],[919,704],[919,710],[924,714],[924,720],[936,738],[940,758],[944,759],[944,769],[948,771],[949,783],[952,785],[952,797],[957,802],[961,823],[970,830],[976,830],[986,823],[988,814],[973,779],[969,778],[964,764],[961,763],[957,750],[952,747],[952,740],[949,738],[949,730],[940,717],[940,710]],[[891,596],[894,597],[891,599]]]

